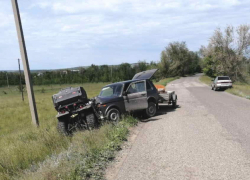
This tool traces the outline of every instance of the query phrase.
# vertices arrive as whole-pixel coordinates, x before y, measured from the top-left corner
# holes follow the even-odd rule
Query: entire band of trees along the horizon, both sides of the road
[[[87,82],[117,82],[132,79],[134,74],[157,68],[155,80],[165,77],[185,76],[204,72],[214,77],[230,76],[234,81],[247,81],[250,78],[250,26],[228,26],[224,30],[217,28],[207,46],[201,46],[198,52],[190,51],[185,42],[170,42],[160,54],[159,61],[139,61],[136,64],[120,65],[92,64],[79,71],[54,70],[42,74],[31,73],[34,85],[72,84]],[[19,74],[0,72],[0,86],[19,84]],[[22,74],[22,83],[24,77]]]

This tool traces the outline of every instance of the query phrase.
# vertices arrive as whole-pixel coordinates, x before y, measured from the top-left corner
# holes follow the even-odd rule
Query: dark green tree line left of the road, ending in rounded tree
[[[189,51],[185,42],[170,43],[161,53],[158,62],[138,61],[135,64],[122,63],[120,65],[92,64],[87,68],[79,68],[78,71],[54,70],[42,73],[31,73],[34,85],[72,84],[87,82],[118,82],[130,80],[141,71],[157,68],[159,71],[154,76],[156,81],[172,76],[183,76],[200,72],[200,58],[197,52]],[[19,74],[16,72],[0,72],[0,86],[19,85]],[[24,84],[24,75],[22,74]]]

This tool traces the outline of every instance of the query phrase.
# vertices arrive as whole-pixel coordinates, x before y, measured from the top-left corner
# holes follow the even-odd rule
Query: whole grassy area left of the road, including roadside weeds
[[[156,84],[166,85],[177,78]],[[31,123],[26,92],[24,102],[16,87],[0,88],[0,179],[76,179],[102,177],[101,169],[114,158],[137,120],[124,117],[117,126],[106,124],[73,137],[57,133],[57,114],[51,96],[68,86],[83,86],[94,97],[107,83],[34,86],[40,127]]]

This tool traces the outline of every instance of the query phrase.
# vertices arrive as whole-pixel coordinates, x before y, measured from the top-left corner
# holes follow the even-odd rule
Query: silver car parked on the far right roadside
[[[216,91],[219,89],[227,89],[233,86],[232,80],[229,76],[217,76],[214,80],[212,80],[212,90]]]

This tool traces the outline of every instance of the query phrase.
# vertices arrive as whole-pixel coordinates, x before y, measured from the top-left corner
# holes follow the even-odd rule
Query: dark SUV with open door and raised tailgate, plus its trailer
[[[175,107],[175,92],[159,93],[150,80],[157,70],[143,71],[136,74],[132,80],[103,87],[95,98],[97,111],[111,121],[119,121],[121,114],[137,110],[142,110],[148,118],[153,117],[161,103],[172,104]]]

